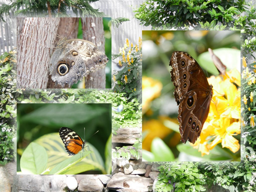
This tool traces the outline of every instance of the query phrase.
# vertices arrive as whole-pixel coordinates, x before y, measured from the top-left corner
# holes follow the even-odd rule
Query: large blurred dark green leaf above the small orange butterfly
[[[92,107],[87,104],[49,104],[23,116],[20,121],[35,122],[48,127],[73,127],[78,123],[87,122],[103,112],[106,108]],[[83,118],[81,118],[83,117]]]

